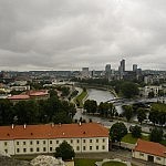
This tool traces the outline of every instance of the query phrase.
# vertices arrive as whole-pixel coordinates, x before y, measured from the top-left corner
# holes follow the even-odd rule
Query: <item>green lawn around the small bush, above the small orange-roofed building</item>
[[[145,135],[142,135],[141,137],[142,139],[144,141],[149,141],[148,139],[148,136],[145,136]],[[128,133],[127,135],[125,135],[123,138],[122,138],[122,142],[125,142],[125,143],[129,143],[129,144],[135,144],[137,142],[138,138],[135,138],[132,136],[131,133]]]

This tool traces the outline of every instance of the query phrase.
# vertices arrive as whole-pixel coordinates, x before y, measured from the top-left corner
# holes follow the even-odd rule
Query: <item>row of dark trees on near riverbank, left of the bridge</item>
[[[100,114],[104,117],[113,117],[118,116],[118,113],[116,112],[114,105],[112,103],[107,102],[101,102],[98,105],[96,101],[94,100],[86,100],[84,103],[84,110],[86,110],[86,113],[91,114]]]

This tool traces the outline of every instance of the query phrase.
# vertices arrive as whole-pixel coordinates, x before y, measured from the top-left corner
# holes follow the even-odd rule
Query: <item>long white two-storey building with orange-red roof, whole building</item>
[[[0,126],[0,151],[9,155],[54,153],[63,141],[75,153],[108,152],[108,129],[96,123]]]

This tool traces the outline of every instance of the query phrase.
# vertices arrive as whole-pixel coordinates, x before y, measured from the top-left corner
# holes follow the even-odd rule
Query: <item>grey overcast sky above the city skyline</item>
[[[0,0],[0,70],[166,70],[166,0]]]

